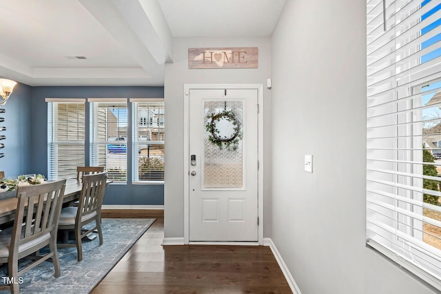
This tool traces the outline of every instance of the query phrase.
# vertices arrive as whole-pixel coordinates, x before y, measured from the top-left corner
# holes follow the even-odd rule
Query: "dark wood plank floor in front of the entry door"
[[[147,217],[142,211],[105,217]],[[92,294],[292,293],[267,246],[161,246],[161,213]]]

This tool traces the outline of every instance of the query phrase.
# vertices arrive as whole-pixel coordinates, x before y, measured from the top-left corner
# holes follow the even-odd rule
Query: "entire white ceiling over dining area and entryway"
[[[163,85],[174,36],[271,36],[285,2],[1,0],[0,76],[32,86]]]

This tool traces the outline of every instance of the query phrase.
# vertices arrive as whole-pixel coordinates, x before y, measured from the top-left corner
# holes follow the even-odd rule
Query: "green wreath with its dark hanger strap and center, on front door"
[[[222,112],[212,112],[207,115],[205,130],[209,133],[208,139],[220,149],[238,149],[242,139],[242,127],[239,118],[233,110],[227,110],[227,101]]]

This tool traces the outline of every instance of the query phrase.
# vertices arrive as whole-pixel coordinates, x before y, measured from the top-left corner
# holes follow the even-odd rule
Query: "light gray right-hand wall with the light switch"
[[[300,291],[435,292],[365,246],[366,1],[288,0],[272,44],[271,239]]]

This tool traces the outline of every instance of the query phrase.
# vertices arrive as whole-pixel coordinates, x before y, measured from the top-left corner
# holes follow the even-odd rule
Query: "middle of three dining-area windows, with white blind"
[[[127,182],[127,99],[88,98],[90,165],[104,167],[107,179]]]

